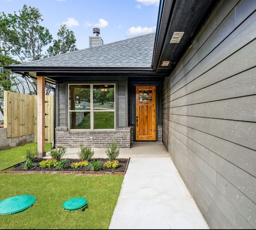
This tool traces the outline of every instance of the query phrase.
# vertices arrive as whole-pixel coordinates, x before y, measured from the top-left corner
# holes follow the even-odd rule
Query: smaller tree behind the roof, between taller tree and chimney
[[[67,29],[66,25],[62,25],[57,33],[58,40],[53,41],[53,45],[47,50],[48,56],[55,56],[58,54],[65,54],[78,50],[76,48],[76,38],[74,32]]]

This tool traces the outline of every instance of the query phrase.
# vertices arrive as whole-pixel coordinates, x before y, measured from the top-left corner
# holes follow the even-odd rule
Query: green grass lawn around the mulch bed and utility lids
[[[24,161],[26,149],[36,151],[36,143],[0,151],[1,170]],[[117,174],[0,173],[0,201],[18,195],[36,197],[24,212],[0,215],[0,229],[108,229],[123,179]],[[63,203],[76,197],[86,198],[88,208],[65,211]]]

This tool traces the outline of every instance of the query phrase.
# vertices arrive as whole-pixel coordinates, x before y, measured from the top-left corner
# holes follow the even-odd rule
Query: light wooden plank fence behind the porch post
[[[45,139],[54,140],[54,96],[45,96]],[[37,142],[37,95],[4,91],[4,128],[7,137],[34,134]]]

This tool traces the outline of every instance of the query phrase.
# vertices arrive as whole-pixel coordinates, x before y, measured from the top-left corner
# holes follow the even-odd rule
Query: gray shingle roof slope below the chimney
[[[155,33],[68,52],[33,62],[22,67],[151,67]]]

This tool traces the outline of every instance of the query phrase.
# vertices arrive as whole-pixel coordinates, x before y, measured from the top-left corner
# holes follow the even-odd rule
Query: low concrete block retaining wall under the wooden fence
[[[34,142],[34,134],[7,138],[7,128],[0,128],[0,150]]]

